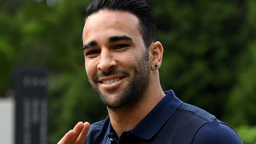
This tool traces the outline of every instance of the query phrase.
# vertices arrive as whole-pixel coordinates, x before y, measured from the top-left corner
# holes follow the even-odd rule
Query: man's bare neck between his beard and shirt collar
[[[161,86],[154,87],[150,92],[144,94],[143,98],[131,107],[108,108],[111,125],[118,137],[121,136],[121,133],[132,130],[165,95]]]

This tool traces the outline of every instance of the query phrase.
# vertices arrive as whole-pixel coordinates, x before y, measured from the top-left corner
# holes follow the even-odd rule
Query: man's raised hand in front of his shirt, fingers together
[[[88,131],[89,123],[79,122],[57,144],[84,144]]]

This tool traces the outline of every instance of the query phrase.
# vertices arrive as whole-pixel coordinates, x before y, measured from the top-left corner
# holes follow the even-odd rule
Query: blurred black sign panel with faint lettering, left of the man
[[[46,86],[44,69],[15,69],[15,144],[47,143]]]

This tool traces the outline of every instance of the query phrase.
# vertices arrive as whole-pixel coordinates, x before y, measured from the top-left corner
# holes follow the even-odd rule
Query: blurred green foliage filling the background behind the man
[[[0,1],[0,95],[12,87],[14,66],[49,69],[49,143],[78,121],[107,116],[84,70],[89,2]],[[255,142],[256,1],[148,2],[165,50],[162,87],[237,128],[245,143]]]

